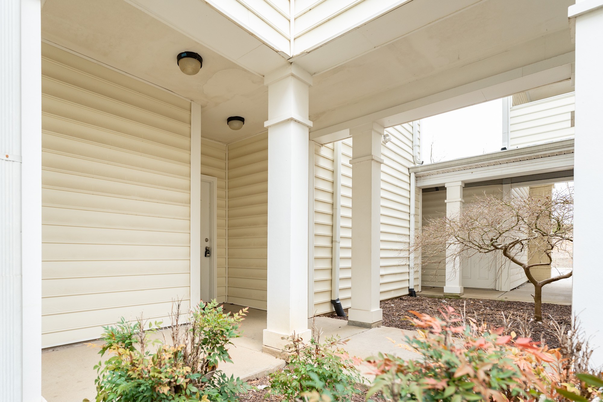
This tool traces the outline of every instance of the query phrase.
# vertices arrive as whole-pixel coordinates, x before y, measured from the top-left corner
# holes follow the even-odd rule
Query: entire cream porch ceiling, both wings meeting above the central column
[[[413,0],[298,56],[317,73],[313,130],[571,52],[572,2]],[[203,136],[226,143],[264,131],[262,75],[286,63],[200,0],[47,0],[42,36],[200,103]],[[203,56],[199,74],[178,69],[185,50]],[[245,117],[238,132],[232,115]]]

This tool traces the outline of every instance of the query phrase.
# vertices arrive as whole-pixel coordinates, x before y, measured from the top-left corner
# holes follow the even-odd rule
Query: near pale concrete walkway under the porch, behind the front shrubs
[[[230,311],[239,311],[237,305],[224,304]],[[229,376],[251,380],[264,377],[270,372],[285,366],[285,362],[269,354],[262,353],[262,331],[266,325],[266,311],[251,309],[242,322],[242,336],[233,340],[230,356],[234,363],[220,365]],[[308,322],[311,328],[312,321]],[[325,336],[339,335],[349,339],[344,349],[351,356],[366,358],[378,352],[392,353],[404,357],[414,357],[414,353],[396,347],[388,338],[397,343],[402,342],[405,334],[412,331],[398,328],[359,328],[347,325],[347,321],[317,317],[315,325]],[[163,337],[161,333],[157,337]],[[105,355],[104,359],[109,358]],[[103,359],[103,360],[104,360]],[[84,343],[58,346],[42,351],[42,395],[48,402],[81,402],[83,398],[93,400],[96,397],[94,380],[96,371],[92,367],[98,364],[101,357],[98,348],[90,348]],[[362,370],[364,372],[364,370]]]

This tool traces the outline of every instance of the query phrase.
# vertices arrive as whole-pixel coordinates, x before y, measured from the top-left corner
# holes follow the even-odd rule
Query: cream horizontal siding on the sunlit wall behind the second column
[[[390,142],[382,145],[380,298],[408,293],[409,171],[412,164],[412,126],[387,129]],[[314,309],[333,311],[331,299],[333,236],[333,146],[317,145],[314,155]],[[341,238],[339,243],[339,299],[352,304],[352,138],[341,141]],[[417,208],[418,208],[417,199]],[[417,220],[419,219],[417,212]],[[419,272],[415,272],[419,278]],[[418,283],[418,282],[417,282]]]

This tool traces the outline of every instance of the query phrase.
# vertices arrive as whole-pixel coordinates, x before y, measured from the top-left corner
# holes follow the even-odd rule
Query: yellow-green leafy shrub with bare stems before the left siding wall
[[[95,401],[235,401],[247,384],[227,377],[218,363],[232,362],[226,346],[239,336],[245,311],[231,315],[216,301],[201,302],[181,323],[178,302],[167,330],[171,344],[150,340],[161,322],[150,323],[147,331],[142,319],[131,323],[122,318],[115,327],[104,327],[105,344],[99,354],[113,356],[95,366]]]

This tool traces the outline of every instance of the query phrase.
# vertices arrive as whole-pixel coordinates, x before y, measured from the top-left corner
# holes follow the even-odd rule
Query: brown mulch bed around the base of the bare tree
[[[408,310],[418,311],[419,313],[429,314],[435,317],[441,317],[440,308],[443,305],[450,305],[455,308],[458,313],[466,308],[468,317],[476,319],[479,323],[486,322],[490,328],[503,327],[503,316],[509,317],[513,314],[514,317],[525,317],[527,314],[528,320],[534,314],[534,303],[507,301],[507,300],[486,300],[486,299],[444,299],[444,298],[428,298],[425,296],[417,296],[411,298],[402,296],[401,298],[385,300],[381,302],[383,309],[383,325],[385,327],[400,328],[402,330],[414,330],[414,326],[405,317],[411,315]],[[559,324],[566,324],[569,328],[572,320],[572,306],[558,304],[542,304],[543,322],[531,322],[532,339],[540,340],[542,335],[549,348],[557,348],[559,340],[552,333],[551,317]],[[551,317],[549,317],[551,316]],[[331,316],[338,319],[346,319],[344,317]],[[521,334],[517,320],[512,321],[511,330],[517,334]]]

